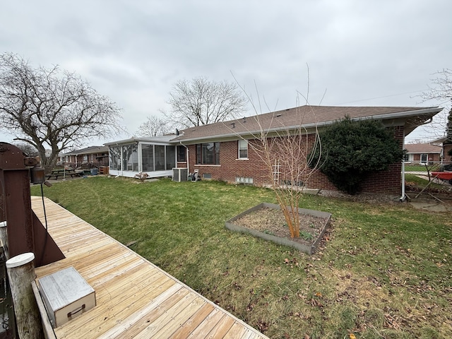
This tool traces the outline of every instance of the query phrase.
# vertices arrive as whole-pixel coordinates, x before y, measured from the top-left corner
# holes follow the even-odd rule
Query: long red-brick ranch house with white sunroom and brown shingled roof
[[[179,167],[187,172],[197,171],[202,179],[263,186],[270,184],[268,169],[254,148],[249,147],[250,143],[256,143],[255,136],[262,130],[269,138],[281,132],[302,131],[303,138],[313,143],[316,129],[321,131],[345,116],[353,120],[376,119],[393,129],[394,138],[403,148],[405,136],[441,110],[439,107],[302,106],[194,126],[172,136],[105,143],[109,147],[109,173],[133,177],[138,172],[146,172],[149,177],[165,177],[172,176],[173,168]],[[364,182],[363,191],[399,194],[403,182],[401,169],[402,162],[391,165],[387,172],[371,175]],[[320,171],[311,176],[307,187],[335,190]]]

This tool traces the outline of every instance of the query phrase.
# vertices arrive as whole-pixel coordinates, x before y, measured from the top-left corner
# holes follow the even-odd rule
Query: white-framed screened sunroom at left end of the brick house
[[[109,174],[135,177],[147,173],[148,177],[171,177],[176,167],[176,146],[170,143],[175,136],[130,138],[105,143],[109,148]]]

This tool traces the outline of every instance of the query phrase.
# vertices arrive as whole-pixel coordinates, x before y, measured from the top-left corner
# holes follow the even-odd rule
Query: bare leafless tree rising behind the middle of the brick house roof
[[[206,78],[181,80],[169,93],[169,120],[183,128],[213,124],[245,112],[247,102],[234,83]]]

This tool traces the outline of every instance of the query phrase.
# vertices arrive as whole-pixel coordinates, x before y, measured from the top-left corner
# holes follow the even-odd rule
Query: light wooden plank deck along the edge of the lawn
[[[44,224],[42,201],[32,208]],[[49,234],[66,258],[37,278],[73,266],[97,306],[55,328],[57,338],[267,338],[145,258],[45,199]]]

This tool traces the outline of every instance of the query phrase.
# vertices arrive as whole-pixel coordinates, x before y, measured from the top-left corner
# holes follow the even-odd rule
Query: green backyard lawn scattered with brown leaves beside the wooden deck
[[[333,214],[307,256],[225,229],[269,189],[92,177],[44,194],[270,338],[452,338],[451,213],[304,196]]]

